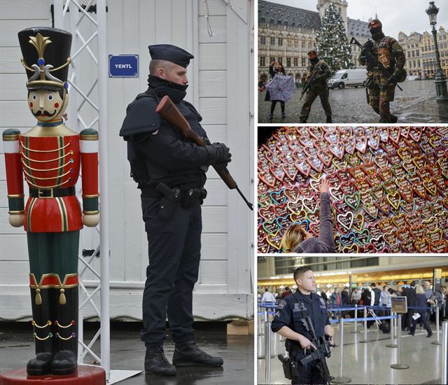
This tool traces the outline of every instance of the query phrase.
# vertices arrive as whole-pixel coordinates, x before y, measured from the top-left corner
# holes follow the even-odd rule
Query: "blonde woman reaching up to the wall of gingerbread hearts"
[[[280,246],[284,253],[335,253],[335,227],[331,215],[329,188],[330,183],[326,179],[321,179],[318,238],[304,230],[298,223],[293,223],[281,238]]]

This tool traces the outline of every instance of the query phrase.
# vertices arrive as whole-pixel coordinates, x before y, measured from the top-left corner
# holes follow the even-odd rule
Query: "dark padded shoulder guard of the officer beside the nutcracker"
[[[155,132],[162,125],[162,118],[155,112],[157,100],[146,92],[138,94],[126,109],[126,117],[120,129],[120,137],[127,140],[131,135]]]

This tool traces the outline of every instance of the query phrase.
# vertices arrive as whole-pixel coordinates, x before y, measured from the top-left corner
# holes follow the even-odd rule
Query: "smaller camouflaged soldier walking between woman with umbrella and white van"
[[[321,104],[325,115],[327,116],[326,123],[331,121],[331,106],[328,102],[328,84],[327,79],[331,76],[330,67],[323,60],[319,59],[317,52],[311,50],[308,52],[309,61],[307,76],[304,79],[304,84],[307,84],[311,79],[310,87],[305,97],[305,102],[300,111],[300,123],[307,123],[309,111],[311,111],[311,104],[313,104],[316,97],[321,98]]]

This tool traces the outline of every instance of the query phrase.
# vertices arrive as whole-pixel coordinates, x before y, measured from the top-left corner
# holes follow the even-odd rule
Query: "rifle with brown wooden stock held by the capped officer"
[[[160,113],[162,118],[174,125],[174,127],[181,132],[184,138],[194,141],[198,146],[207,146],[207,141],[191,129],[190,124],[182,115],[181,111],[179,111],[176,105],[172,102],[172,99],[169,99],[169,96],[165,95],[162,99],[160,99],[160,103],[156,107],[155,112]],[[253,211],[253,204],[251,204],[243,193],[241,193],[241,190],[239,190],[237,186],[237,182],[235,182],[232,178],[232,175],[230,175],[227,167],[224,167],[223,169],[216,169],[216,167],[214,167],[214,169],[221,179],[223,179],[226,186],[228,186],[230,190],[236,189],[239,195],[241,195],[241,198],[243,198],[244,202],[246,202],[247,207]]]

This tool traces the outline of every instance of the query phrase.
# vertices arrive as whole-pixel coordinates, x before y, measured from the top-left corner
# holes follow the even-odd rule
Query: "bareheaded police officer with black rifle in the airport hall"
[[[292,384],[328,384],[332,379],[325,357],[330,357],[332,328],[327,305],[315,293],[316,279],[310,267],[295,269],[297,291],[279,302],[272,331],[286,337],[289,358],[282,358],[286,378]]]

